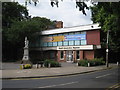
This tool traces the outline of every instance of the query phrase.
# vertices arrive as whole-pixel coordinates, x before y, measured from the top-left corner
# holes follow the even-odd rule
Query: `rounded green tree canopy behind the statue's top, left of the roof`
[[[30,41],[34,41],[37,38],[35,33],[47,29],[47,26],[51,24],[49,19],[41,17],[14,22],[6,33],[7,39],[11,43],[22,43],[24,37],[27,36]]]

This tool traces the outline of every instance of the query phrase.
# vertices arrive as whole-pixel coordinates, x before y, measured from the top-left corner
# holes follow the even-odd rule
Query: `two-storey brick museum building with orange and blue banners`
[[[76,62],[83,59],[99,57],[100,44],[99,24],[89,24],[68,28],[56,28],[42,31],[31,50],[44,52],[47,59],[58,62]],[[39,57],[40,58],[40,57]]]

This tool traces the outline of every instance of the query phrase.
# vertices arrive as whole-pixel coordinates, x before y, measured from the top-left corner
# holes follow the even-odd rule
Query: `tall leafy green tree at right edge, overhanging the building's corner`
[[[117,57],[120,51],[120,2],[98,2],[91,7],[92,20],[102,27],[102,42],[106,43],[106,33],[110,30],[109,50]],[[115,56],[113,55],[113,56]]]

